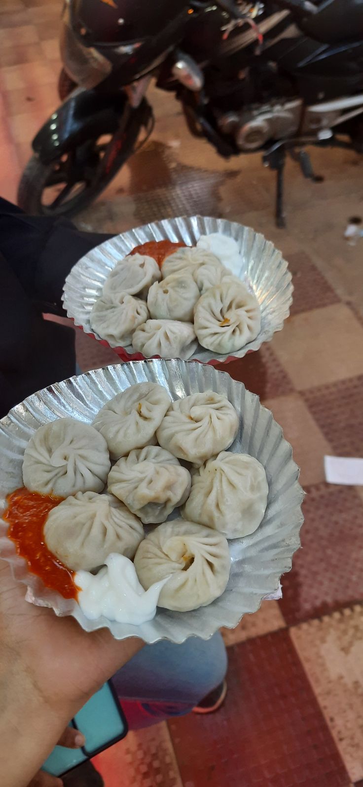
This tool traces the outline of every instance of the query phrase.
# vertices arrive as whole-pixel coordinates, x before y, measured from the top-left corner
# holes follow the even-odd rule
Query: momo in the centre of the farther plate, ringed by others
[[[148,311],[153,320],[192,323],[200,291],[190,273],[173,273],[148,290]]]

